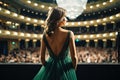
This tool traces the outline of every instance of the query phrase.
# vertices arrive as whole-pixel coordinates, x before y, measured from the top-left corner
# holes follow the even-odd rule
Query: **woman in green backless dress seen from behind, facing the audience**
[[[62,29],[66,23],[66,11],[55,7],[48,12],[41,46],[42,67],[34,80],[77,80],[75,69],[77,55],[72,31]],[[50,57],[45,59],[48,49]],[[70,56],[69,56],[70,49]]]

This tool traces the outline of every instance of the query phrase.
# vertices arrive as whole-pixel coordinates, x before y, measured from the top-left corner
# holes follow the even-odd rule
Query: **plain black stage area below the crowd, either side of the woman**
[[[0,80],[32,80],[41,64],[0,64]],[[119,80],[120,64],[78,64],[78,80]]]

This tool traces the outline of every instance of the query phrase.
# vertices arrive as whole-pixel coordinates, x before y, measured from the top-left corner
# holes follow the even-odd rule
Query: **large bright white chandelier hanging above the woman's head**
[[[82,14],[86,8],[88,0],[56,0],[59,7],[67,10],[66,16],[69,19],[75,19]]]

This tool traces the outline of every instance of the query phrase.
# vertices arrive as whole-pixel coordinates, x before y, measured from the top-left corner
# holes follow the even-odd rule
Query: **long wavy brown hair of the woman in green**
[[[54,34],[55,29],[58,27],[58,22],[65,16],[66,10],[61,7],[52,8],[48,12],[48,17],[45,22],[45,32],[48,36]]]

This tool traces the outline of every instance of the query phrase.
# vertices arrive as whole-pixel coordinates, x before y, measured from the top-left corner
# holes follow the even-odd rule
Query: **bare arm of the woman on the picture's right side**
[[[76,69],[77,68],[77,64],[78,64],[78,58],[77,58],[77,54],[76,54],[76,46],[75,46],[75,40],[74,40],[74,33],[71,31],[70,33],[70,55],[71,55],[71,59],[72,59],[72,63],[73,63],[73,67]]]

